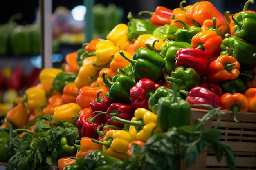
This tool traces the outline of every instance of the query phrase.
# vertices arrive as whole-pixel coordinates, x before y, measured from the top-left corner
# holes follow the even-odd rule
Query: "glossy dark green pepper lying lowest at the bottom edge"
[[[112,164],[121,162],[120,159],[107,155],[100,150],[93,150],[83,161],[84,170],[111,170]]]

